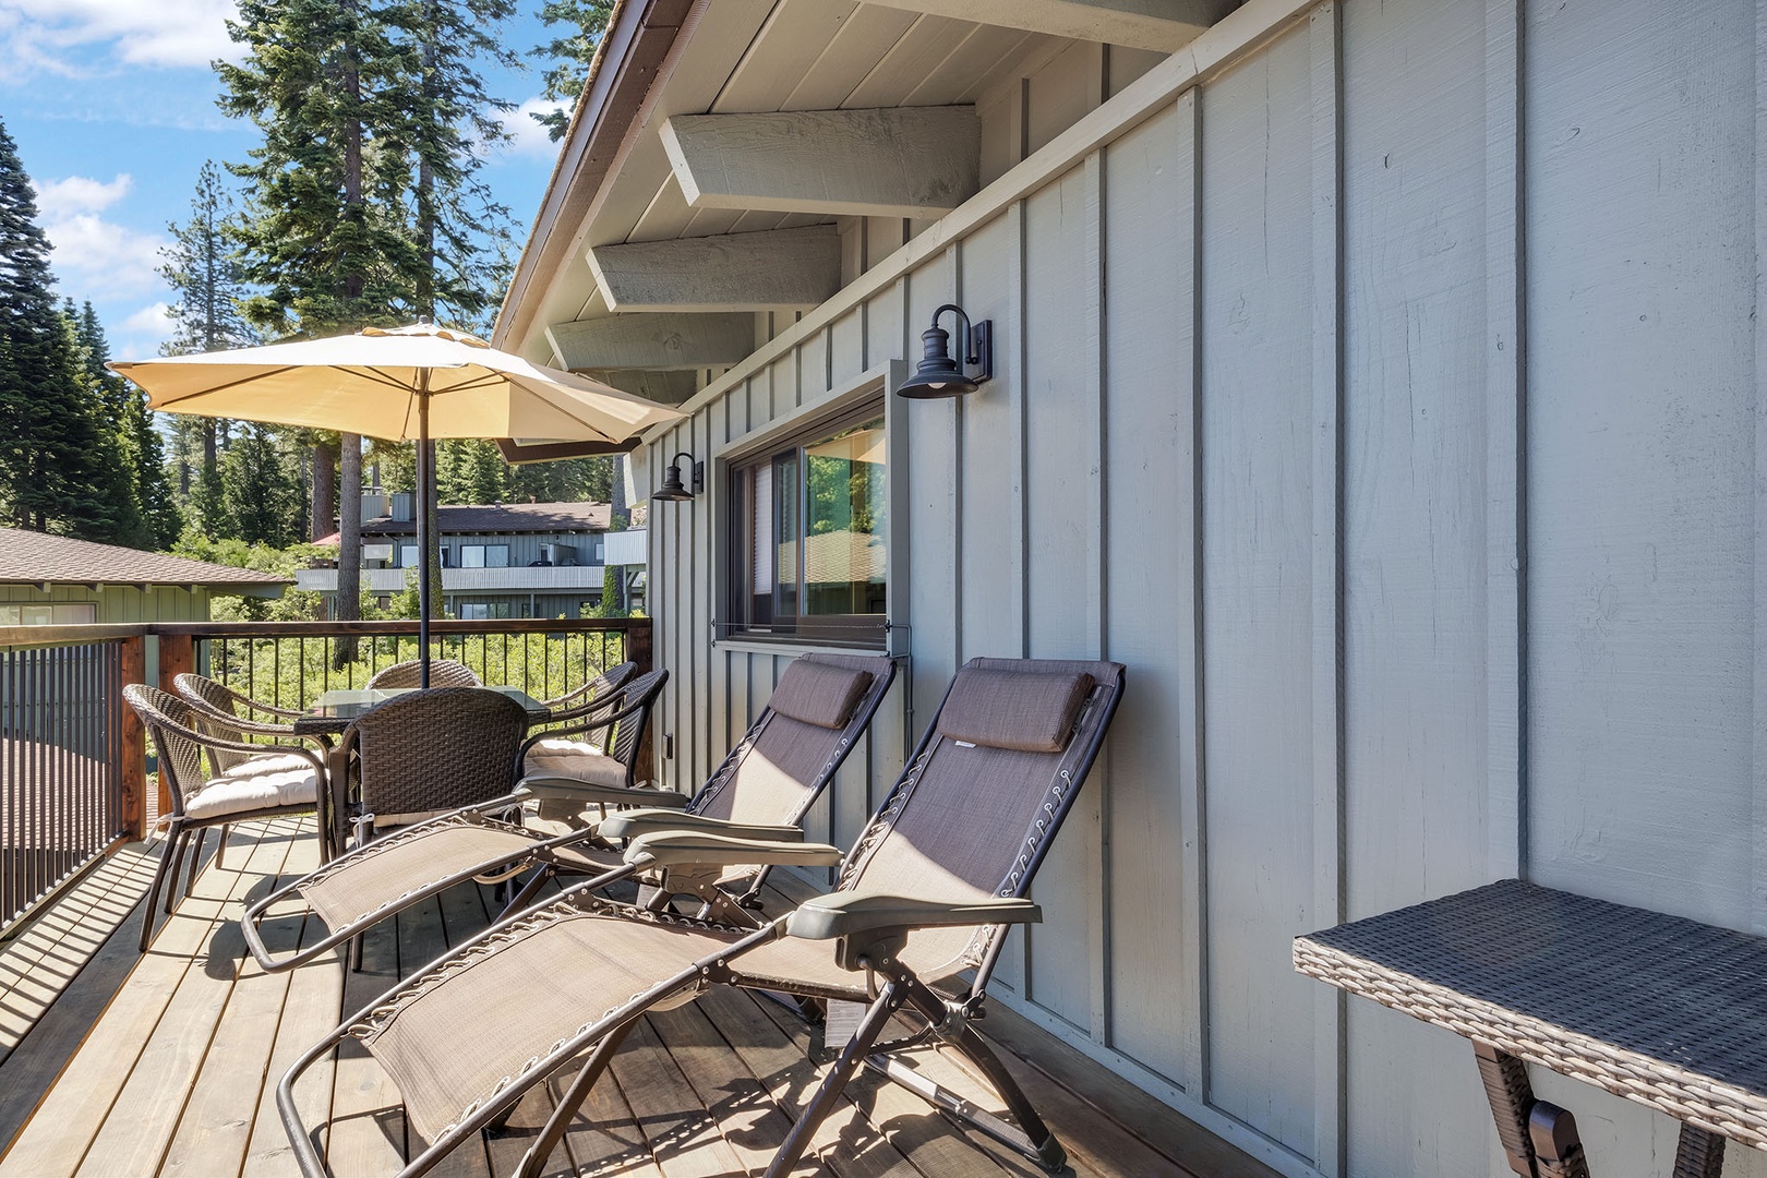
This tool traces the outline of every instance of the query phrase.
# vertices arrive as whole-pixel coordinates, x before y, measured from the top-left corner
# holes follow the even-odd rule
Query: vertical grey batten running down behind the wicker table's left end
[[[1343,9],[1309,19],[1313,78],[1313,911],[1345,920]],[[1345,1173],[1345,994],[1315,987],[1315,1148]]]

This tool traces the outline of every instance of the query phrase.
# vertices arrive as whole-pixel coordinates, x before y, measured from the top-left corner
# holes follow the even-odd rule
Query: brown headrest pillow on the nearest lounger
[[[938,712],[938,735],[990,749],[1060,752],[1088,694],[1085,671],[963,668]]]

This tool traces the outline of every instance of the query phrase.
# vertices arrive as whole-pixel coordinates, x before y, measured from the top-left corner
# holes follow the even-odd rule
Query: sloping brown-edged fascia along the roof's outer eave
[[[693,7],[694,0],[618,0],[615,5],[546,184],[546,198],[497,313],[493,346],[519,348],[541,304],[528,295],[544,291],[569,261],[578,230]]]

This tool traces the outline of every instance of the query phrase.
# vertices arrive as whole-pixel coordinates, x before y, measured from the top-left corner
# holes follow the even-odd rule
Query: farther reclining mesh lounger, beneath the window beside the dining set
[[[618,828],[618,837],[693,827],[802,839],[797,823],[871,724],[894,673],[887,655],[804,655],[779,676],[747,735],[693,798],[664,789],[530,775],[516,793],[391,834],[263,897],[246,911],[246,943],[265,970],[286,970],[466,880],[498,881],[539,869],[511,904],[514,910],[560,871],[594,876],[597,888],[640,874],[641,869],[606,841],[611,834],[578,828],[553,835],[498,818],[532,800],[542,807],[560,802],[574,809],[645,807],[603,823]],[[611,701],[618,710],[597,722],[636,708],[631,692],[647,692],[641,680],[648,678],[640,676],[624,694],[617,692]],[[677,894],[689,895],[700,901],[701,917],[753,925],[742,897],[760,888],[765,869],[765,864],[742,860],[701,872],[675,871],[670,880],[647,878],[666,887],[647,888],[645,895],[654,908],[668,906]],[[293,894],[325,920],[329,934],[297,954],[272,957],[260,924],[272,906]]]

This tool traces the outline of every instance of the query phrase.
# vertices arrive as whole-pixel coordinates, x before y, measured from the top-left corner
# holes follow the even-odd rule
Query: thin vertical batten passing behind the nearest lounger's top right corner
[[[1108,53],[1099,57],[1099,87],[1106,85],[1108,71]],[[1104,353],[1104,316],[1110,313],[1106,306],[1106,274],[1104,274],[1104,152],[1108,148],[1099,148],[1087,155],[1085,164],[1085,235],[1087,235],[1087,274],[1092,276],[1087,286],[1085,297],[1085,323],[1081,327],[1085,346],[1092,350],[1087,357],[1087,387],[1083,396],[1092,401],[1092,429],[1096,434],[1096,457],[1097,466],[1094,468],[1090,487],[1092,487],[1092,519],[1094,519],[1094,540],[1097,542],[1097,551],[1092,555],[1094,560],[1085,567],[1085,574],[1090,579],[1087,586],[1087,600],[1092,608],[1092,616],[1087,618],[1087,639],[1092,643],[1094,650],[1099,652],[1099,659],[1110,659],[1110,606],[1106,602],[1104,576],[1106,563],[1110,560],[1110,502],[1108,486],[1104,472],[1110,470],[1110,434],[1104,427],[1106,397],[1108,397],[1108,364],[1110,357]],[[1090,828],[1090,837],[1087,841],[1087,918],[1088,931],[1087,952],[1088,961],[1088,984],[1087,993],[1090,994],[1090,1033],[1096,1042],[1110,1042],[1110,961],[1111,961],[1111,931],[1110,931],[1110,742],[1099,751],[1097,763],[1092,766],[1094,782],[1087,791],[1092,797],[1092,804],[1097,807],[1097,819]],[[1088,809],[1090,809],[1088,805]]]

